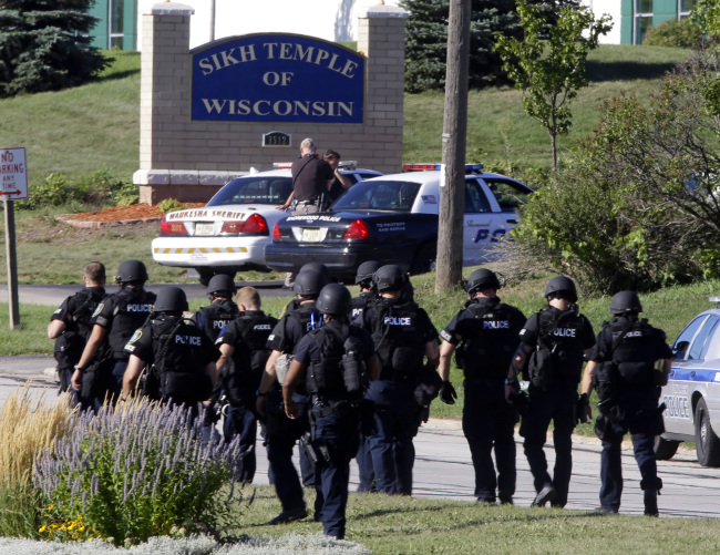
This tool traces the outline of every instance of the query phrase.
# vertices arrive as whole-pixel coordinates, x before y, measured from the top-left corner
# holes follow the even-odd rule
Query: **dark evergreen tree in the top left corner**
[[[76,86],[112,60],[90,45],[94,0],[0,0],[0,96]]]

